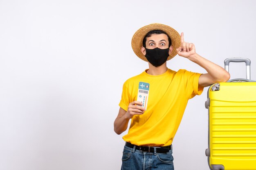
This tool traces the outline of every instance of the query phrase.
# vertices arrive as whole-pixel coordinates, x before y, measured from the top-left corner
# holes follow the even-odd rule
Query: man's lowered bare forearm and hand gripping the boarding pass
[[[133,101],[129,104],[127,111],[120,107],[119,113],[114,122],[115,133],[120,135],[121,133],[126,131],[129,120],[134,115],[142,115],[144,113],[145,109],[139,105],[142,105],[142,103],[138,101]]]

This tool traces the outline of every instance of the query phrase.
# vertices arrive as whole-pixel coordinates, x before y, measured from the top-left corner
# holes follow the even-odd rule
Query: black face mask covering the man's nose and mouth
[[[160,48],[154,48],[154,49],[148,49],[146,48],[146,59],[149,63],[154,65],[155,67],[158,67],[165,63],[167,58],[169,57],[169,48],[166,49],[160,49]]]

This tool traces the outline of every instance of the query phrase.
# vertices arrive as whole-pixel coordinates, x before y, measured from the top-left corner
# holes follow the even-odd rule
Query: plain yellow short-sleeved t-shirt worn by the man
[[[124,83],[119,103],[122,109],[127,111],[129,103],[137,100],[139,82],[149,83],[149,96],[147,110],[143,115],[133,116],[123,139],[139,146],[168,146],[173,142],[188,100],[202,94],[203,88],[198,88],[201,74],[168,69],[153,76],[146,71]]]

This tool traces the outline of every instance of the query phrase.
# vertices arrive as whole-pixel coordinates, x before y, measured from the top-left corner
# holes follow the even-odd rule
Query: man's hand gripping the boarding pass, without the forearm
[[[141,107],[139,105],[142,105],[139,101],[133,101],[128,105],[128,109],[126,112],[126,118],[132,118],[134,115],[142,115],[144,113],[144,107]]]

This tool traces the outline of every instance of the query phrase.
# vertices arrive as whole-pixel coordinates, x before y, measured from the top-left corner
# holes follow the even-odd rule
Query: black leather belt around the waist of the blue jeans
[[[133,145],[129,142],[126,142],[125,146],[129,148],[133,148],[135,146],[135,149],[142,151],[142,152],[152,152],[154,153],[154,148],[156,148],[157,153],[167,153],[169,150],[172,149],[172,145],[170,146],[161,146],[161,147],[154,147],[154,146],[137,146]]]

